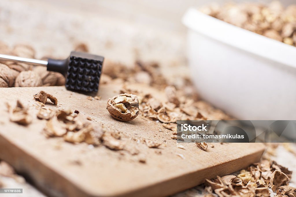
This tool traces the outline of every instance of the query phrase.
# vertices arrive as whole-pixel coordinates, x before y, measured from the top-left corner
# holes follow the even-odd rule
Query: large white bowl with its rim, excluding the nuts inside
[[[183,23],[203,99],[240,120],[296,120],[296,47],[194,8]]]

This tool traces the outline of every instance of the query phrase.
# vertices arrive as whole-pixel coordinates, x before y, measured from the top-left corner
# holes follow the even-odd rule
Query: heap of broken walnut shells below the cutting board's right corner
[[[214,180],[206,179],[207,197],[209,196],[296,196],[296,188],[288,185],[292,172],[274,161],[263,159],[237,176],[217,176]],[[271,190],[269,189],[271,188]],[[272,194],[272,196],[274,196]]]

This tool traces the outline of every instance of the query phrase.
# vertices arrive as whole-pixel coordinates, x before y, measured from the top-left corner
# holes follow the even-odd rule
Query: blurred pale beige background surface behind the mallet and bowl
[[[38,58],[65,58],[85,43],[91,53],[113,61],[158,61],[164,72],[173,67],[170,72],[185,76],[186,27],[181,18],[189,7],[210,2],[228,1],[2,0],[0,35],[11,46],[33,46]]]

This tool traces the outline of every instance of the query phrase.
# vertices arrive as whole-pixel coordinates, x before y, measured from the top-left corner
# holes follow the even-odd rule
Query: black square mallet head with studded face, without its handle
[[[97,92],[104,57],[72,51],[68,61],[66,88],[74,91]]]

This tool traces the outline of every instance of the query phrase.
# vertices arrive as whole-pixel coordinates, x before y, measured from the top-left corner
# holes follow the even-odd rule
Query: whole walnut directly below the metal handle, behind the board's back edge
[[[22,71],[15,79],[15,87],[38,87],[42,85],[42,80],[37,72],[28,70]]]

